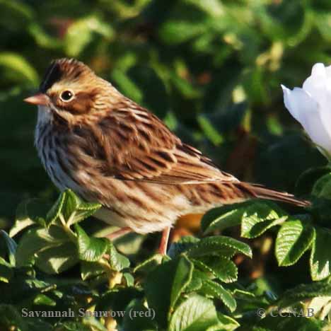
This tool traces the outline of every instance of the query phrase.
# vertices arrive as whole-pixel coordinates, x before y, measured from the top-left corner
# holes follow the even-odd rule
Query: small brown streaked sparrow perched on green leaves
[[[163,231],[163,254],[180,215],[256,197],[308,204],[219,170],[76,59],[52,62],[25,101],[38,105],[35,146],[59,190],[102,204],[95,216],[120,226],[117,235]]]

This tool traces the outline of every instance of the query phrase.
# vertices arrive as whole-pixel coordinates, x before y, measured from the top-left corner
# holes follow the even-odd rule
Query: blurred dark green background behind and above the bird
[[[240,179],[294,192],[326,161],[283,104],[331,64],[331,2],[0,2],[0,228],[19,202],[54,199],[33,146],[33,93],[52,59],[75,57]]]

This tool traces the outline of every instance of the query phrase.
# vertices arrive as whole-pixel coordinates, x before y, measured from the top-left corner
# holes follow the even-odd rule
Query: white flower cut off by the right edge
[[[317,63],[302,88],[281,86],[284,103],[321,151],[331,155],[331,66]]]

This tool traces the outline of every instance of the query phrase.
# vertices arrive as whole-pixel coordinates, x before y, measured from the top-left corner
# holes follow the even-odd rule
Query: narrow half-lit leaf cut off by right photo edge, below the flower
[[[315,230],[315,240],[310,253],[310,275],[314,281],[318,281],[330,276],[331,233],[326,228]]]

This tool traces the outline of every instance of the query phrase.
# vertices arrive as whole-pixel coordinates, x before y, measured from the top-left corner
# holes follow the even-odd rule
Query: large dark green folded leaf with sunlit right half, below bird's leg
[[[180,256],[175,260],[163,262],[147,276],[144,283],[146,298],[161,325],[165,325],[168,313],[174,308],[185,287],[190,284],[192,272],[192,262],[187,257]]]

